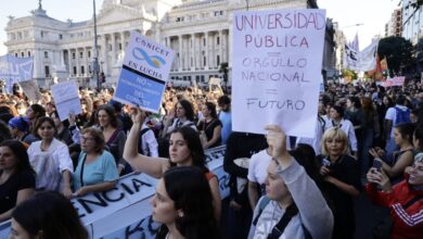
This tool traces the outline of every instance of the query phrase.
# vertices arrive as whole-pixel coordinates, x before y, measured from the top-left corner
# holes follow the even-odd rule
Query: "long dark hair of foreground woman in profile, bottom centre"
[[[187,239],[217,239],[219,231],[214,216],[210,186],[197,167],[180,166],[168,169],[163,176],[166,192],[181,210],[176,227]],[[162,226],[156,238],[165,238],[167,227]]]

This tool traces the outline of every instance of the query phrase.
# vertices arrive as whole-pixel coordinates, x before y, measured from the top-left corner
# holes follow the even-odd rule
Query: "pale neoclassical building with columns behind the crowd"
[[[137,30],[174,49],[171,79],[206,83],[209,77],[221,77],[221,63],[231,68],[234,11],[285,8],[318,7],[315,0],[104,0],[97,14],[100,72],[107,85],[116,83],[130,32]],[[57,21],[40,1],[31,15],[11,16],[5,30],[10,54],[35,58],[34,75],[41,87],[55,77],[95,86],[90,80],[95,56],[93,18]],[[333,48],[332,42],[325,46]],[[325,58],[332,54],[325,53]],[[324,71],[331,67],[334,65],[323,63]]]

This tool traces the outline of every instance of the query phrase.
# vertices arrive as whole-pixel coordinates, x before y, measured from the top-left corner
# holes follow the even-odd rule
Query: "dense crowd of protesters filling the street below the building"
[[[82,113],[65,121],[50,91],[33,102],[13,89],[0,95],[0,222],[13,217],[12,238],[29,229],[22,218],[42,197],[56,200],[46,209],[53,210],[133,171],[159,178],[157,238],[355,238],[361,193],[390,213],[390,226],[369,238],[423,235],[420,81],[326,85],[313,138],[274,125],[266,136],[232,131],[230,95],[220,87],[168,87],[156,114],[112,100],[113,89],[80,89]],[[230,175],[223,200],[204,154],[218,146]],[[37,225],[30,235],[44,230]],[[87,238],[77,231],[73,238]]]

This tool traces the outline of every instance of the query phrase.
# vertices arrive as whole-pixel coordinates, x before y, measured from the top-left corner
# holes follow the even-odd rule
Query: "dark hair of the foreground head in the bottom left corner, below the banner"
[[[43,239],[87,239],[88,234],[70,201],[59,192],[44,191],[18,204],[12,213],[29,236]]]

